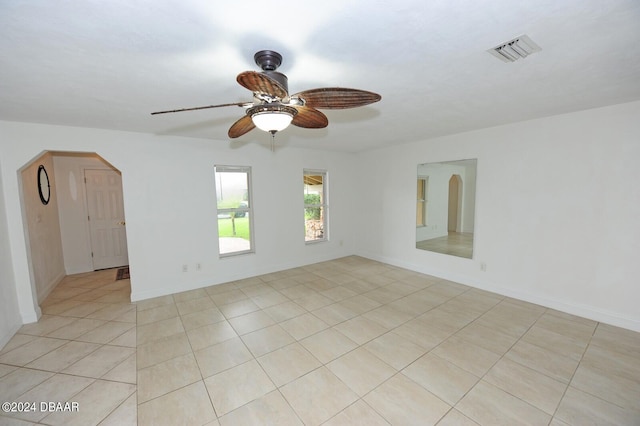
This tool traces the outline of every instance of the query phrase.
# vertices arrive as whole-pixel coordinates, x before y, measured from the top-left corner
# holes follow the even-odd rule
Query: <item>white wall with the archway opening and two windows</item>
[[[16,171],[43,151],[95,152],[122,172],[134,300],[353,253],[353,154],[287,147],[272,153],[256,144],[230,149],[226,140],[14,122],[0,122],[0,133],[8,239],[23,322],[37,318],[37,303]],[[218,257],[215,164],[252,167],[255,254]],[[327,243],[304,244],[304,168],[329,173]],[[189,272],[182,272],[183,264]]]

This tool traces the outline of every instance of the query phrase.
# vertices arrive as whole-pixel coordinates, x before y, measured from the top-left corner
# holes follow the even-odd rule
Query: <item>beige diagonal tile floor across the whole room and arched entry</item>
[[[356,256],[141,301],[134,327],[111,274],[0,352],[4,399],[81,412],[0,424],[640,425],[640,333]]]

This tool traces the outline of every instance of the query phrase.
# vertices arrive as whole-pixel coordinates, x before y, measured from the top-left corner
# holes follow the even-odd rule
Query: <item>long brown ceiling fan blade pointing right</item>
[[[377,93],[342,87],[305,90],[293,95],[293,97],[295,96],[304,99],[307,106],[326,109],[355,108],[369,105],[382,99]]]

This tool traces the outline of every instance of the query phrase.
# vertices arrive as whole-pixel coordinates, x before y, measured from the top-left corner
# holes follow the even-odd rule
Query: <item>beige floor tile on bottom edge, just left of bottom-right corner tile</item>
[[[551,421],[551,416],[544,411],[484,381],[474,386],[456,409],[483,426],[538,426]]]

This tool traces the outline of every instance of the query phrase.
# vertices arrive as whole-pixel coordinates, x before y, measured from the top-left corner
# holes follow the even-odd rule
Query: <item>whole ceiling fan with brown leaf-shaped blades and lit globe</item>
[[[256,127],[274,136],[289,124],[307,129],[327,127],[327,116],[317,108],[355,108],[381,99],[377,93],[341,87],[311,89],[290,95],[287,76],[276,71],[282,64],[282,55],[272,50],[261,50],[253,58],[262,72],[244,71],[236,78],[241,86],[253,92],[253,102],[157,111],[151,115],[239,106],[246,108],[245,115],[229,128],[230,138],[240,137]]]

